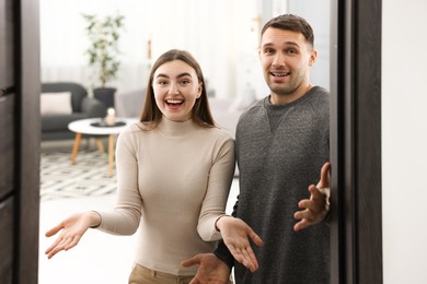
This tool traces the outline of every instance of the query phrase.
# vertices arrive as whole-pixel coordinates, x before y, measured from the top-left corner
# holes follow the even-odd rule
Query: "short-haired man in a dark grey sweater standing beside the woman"
[[[259,59],[270,94],[239,120],[233,216],[264,244],[232,251],[242,256],[235,263],[223,242],[215,256],[183,262],[199,264],[192,283],[224,283],[233,264],[236,283],[330,283],[328,93],[310,83],[313,45],[313,31],[299,16],[280,15],[263,27]],[[217,221],[221,233],[232,218]]]

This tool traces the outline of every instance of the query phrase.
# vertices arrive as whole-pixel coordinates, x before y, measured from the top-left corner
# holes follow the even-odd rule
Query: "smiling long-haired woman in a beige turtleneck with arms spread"
[[[221,238],[216,222],[234,174],[234,141],[215,127],[201,69],[188,52],[160,56],[148,85],[140,122],[117,140],[116,208],[62,221],[46,233],[61,230],[46,255],[74,247],[90,227],[116,235],[139,229],[129,283],[189,283],[197,268],[181,261],[211,252]],[[246,236],[255,234],[239,224],[234,238],[227,233],[233,249],[250,247]]]

